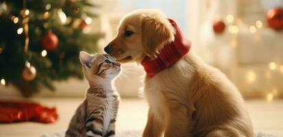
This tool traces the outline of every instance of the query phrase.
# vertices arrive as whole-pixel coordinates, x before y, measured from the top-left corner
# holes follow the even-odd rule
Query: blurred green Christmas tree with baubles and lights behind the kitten
[[[95,51],[102,34],[84,31],[97,14],[86,0],[0,2],[0,79],[29,97],[53,81],[82,79],[79,51]]]

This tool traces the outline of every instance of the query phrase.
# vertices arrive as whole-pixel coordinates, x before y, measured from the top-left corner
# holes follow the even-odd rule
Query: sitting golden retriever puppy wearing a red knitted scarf
[[[147,72],[143,136],[254,136],[241,93],[189,49],[180,27],[158,10],[127,14],[105,47],[119,62],[138,62]]]

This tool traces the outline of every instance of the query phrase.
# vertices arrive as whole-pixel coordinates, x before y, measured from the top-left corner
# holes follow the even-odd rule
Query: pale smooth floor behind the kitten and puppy
[[[38,137],[47,132],[66,129],[73,112],[82,99],[34,99],[48,106],[56,106],[60,119],[53,124],[13,123],[0,124],[0,137]],[[255,132],[283,136],[283,100],[267,102],[249,100],[247,108]],[[142,99],[123,99],[116,123],[118,131],[142,131],[147,120],[147,103]]]

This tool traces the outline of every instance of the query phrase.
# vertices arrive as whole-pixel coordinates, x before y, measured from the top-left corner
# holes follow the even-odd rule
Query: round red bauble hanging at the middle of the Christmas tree
[[[43,49],[52,51],[58,47],[58,37],[49,30],[49,32],[42,37],[41,45]]]

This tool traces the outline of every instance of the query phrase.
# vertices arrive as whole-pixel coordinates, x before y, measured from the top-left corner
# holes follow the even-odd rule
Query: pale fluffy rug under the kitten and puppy
[[[46,133],[42,134],[41,137],[64,137],[65,132],[55,132],[55,133]],[[140,137],[142,136],[142,131],[117,131],[116,132],[116,137]],[[266,134],[262,132],[258,132],[254,134],[255,137],[276,137],[273,136],[272,134]]]

